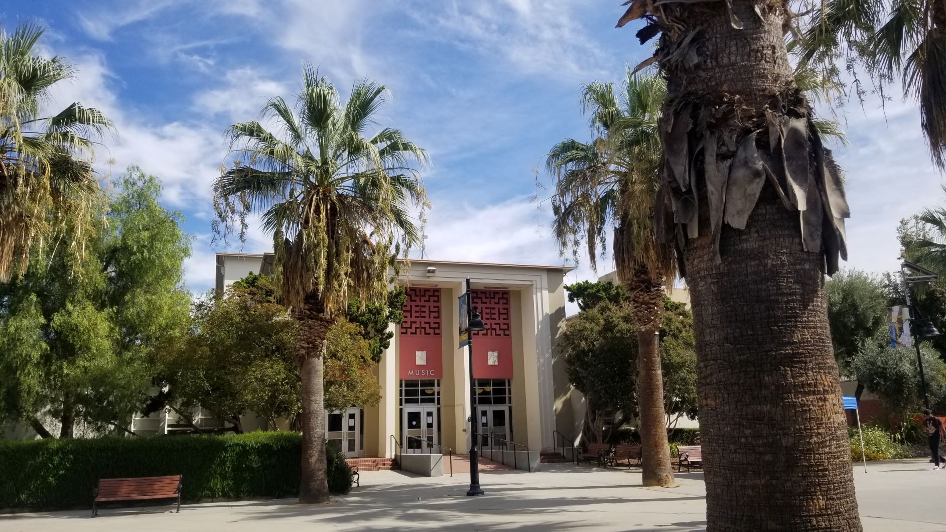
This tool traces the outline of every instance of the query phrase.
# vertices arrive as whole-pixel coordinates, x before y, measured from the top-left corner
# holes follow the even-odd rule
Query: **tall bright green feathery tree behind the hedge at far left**
[[[0,285],[0,417],[44,437],[45,417],[59,421],[61,437],[79,419],[127,430],[156,349],[188,321],[180,214],[161,207],[161,186],[140,168],[115,186],[84,233],[83,255],[65,253],[75,235],[62,235]]]

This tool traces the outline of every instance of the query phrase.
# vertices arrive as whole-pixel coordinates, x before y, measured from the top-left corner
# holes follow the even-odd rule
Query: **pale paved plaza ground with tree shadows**
[[[486,495],[466,497],[467,473],[429,479],[399,471],[361,474],[361,488],[331,504],[291,500],[105,508],[0,515],[0,530],[134,532],[210,530],[703,530],[701,472],[677,475],[679,488],[641,488],[640,473],[570,464],[540,472],[481,475]],[[186,477],[185,477],[186,478]],[[946,471],[925,460],[874,462],[854,470],[864,527],[869,531],[946,530]]]

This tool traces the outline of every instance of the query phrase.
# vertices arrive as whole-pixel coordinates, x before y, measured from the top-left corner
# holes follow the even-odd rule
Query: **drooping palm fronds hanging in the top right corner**
[[[839,60],[859,62],[881,88],[900,78],[904,96],[919,100],[933,162],[946,169],[946,3],[828,0],[807,22],[793,43],[800,65],[836,76]]]

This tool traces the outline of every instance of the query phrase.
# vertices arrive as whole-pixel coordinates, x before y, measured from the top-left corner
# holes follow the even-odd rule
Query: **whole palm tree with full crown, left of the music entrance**
[[[389,257],[418,241],[409,208],[426,204],[416,165],[423,150],[398,130],[368,136],[387,90],[367,80],[343,105],[335,87],[310,66],[292,107],[263,106],[263,122],[229,130],[236,163],[214,186],[218,234],[251,212],[272,233],[274,282],[299,322],[302,363],[302,482],[299,502],[328,500],[325,479],[323,355],[325,335],[351,298],[387,293]],[[267,129],[272,127],[274,129]]]

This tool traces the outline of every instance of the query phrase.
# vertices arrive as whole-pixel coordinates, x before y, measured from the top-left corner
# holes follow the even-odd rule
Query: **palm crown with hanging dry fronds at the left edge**
[[[25,273],[33,244],[65,223],[74,227],[66,245],[81,253],[91,202],[101,196],[90,138],[111,123],[79,103],[41,115],[53,86],[75,74],[61,57],[39,55],[43,31],[0,28],[0,283]]]

